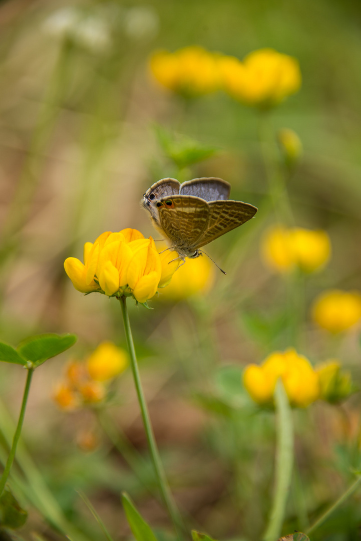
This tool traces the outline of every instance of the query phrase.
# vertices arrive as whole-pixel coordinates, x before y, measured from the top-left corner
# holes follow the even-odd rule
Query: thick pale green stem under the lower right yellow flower
[[[280,537],[292,477],[292,413],[281,380],[278,380],[276,386],[275,405],[277,415],[276,486],[269,524],[263,541],[276,541]]]

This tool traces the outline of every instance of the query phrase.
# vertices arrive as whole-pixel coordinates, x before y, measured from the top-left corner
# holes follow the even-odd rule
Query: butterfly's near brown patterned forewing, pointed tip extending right
[[[250,220],[257,212],[257,207],[243,201],[211,201],[207,227],[200,235],[195,248],[205,246],[212,240],[228,233]]]

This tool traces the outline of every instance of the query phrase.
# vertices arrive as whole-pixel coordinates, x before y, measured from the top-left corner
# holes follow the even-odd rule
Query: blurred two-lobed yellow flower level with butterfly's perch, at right
[[[289,272],[296,267],[314,272],[330,259],[331,241],[321,229],[273,227],[263,237],[261,254],[265,264],[278,272]]]

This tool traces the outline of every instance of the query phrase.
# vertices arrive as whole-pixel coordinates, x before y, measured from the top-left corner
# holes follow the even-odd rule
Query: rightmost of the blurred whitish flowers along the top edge
[[[129,8],[124,13],[124,32],[132,39],[150,39],[157,35],[159,17],[150,6]]]

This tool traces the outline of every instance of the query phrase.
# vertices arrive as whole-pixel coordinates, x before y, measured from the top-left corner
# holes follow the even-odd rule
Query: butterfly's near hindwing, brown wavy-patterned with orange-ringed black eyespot
[[[157,201],[156,208],[159,225],[173,245],[191,250],[207,227],[208,203],[200,197],[172,195]]]

